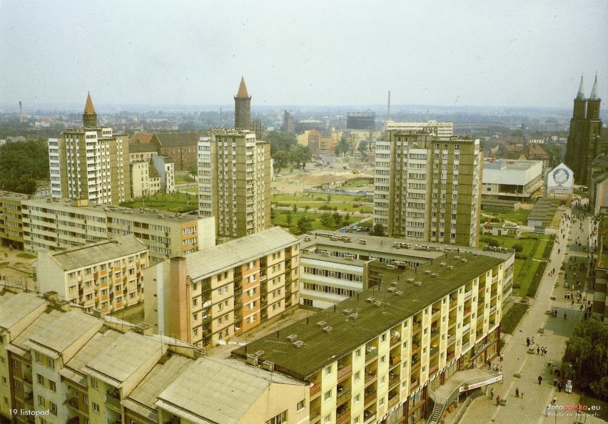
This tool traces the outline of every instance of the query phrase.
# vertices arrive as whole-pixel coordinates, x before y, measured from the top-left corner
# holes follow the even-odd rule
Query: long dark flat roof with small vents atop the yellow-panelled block
[[[271,361],[275,363],[276,371],[306,380],[336,358],[350,353],[476,276],[502,264],[505,257],[505,254],[490,256],[483,252],[442,254],[440,258],[422,264],[417,269],[402,272],[400,281],[396,282],[395,291],[388,291],[388,287],[379,289],[377,286],[366,289],[358,296],[341,301],[334,308],[320,311],[314,319],[298,321],[277,333],[235,349],[233,354],[245,357],[248,353],[263,351],[260,361]],[[467,262],[462,262],[462,259]],[[447,269],[441,264],[453,265],[453,269]],[[432,276],[435,273],[437,276]],[[407,282],[409,278],[422,284],[415,286]],[[397,291],[402,294],[397,294]],[[368,298],[380,301],[380,306],[368,302]],[[359,315],[356,319],[350,319],[344,310]],[[325,324],[318,326],[316,323],[319,321],[325,321]],[[332,328],[330,332],[323,331],[323,327],[327,326]],[[293,342],[286,338],[291,334],[295,334],[298,341],[303,341],[303,346],[293,346]]]

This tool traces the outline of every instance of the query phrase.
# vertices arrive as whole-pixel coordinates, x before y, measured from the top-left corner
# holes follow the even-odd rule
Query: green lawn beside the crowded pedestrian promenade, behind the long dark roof
[[[523,250],[517,252],[515,256],[513,293],[522,297],[535,297],[540,278],[547,265],[543,259],[545,254],[550,252],[553,239],[554,238],[549,235],[532,233],[525,233],[524,237],[520,239],[507,236],[497,237],[482,235],[480,237],[480,247],[485,247],[490,240],[497,242],[500,247],[507,247],[510,249],[512,249],[515,244],[520,244],[523,247]]]

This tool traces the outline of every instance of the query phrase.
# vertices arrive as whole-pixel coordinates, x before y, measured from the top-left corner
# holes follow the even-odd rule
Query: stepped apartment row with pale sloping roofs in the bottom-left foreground
[[[0,417],[20,424],[308,417],[302,382],[240,361],[204,358],[195,346],[150,330],[71,310],[54,294],[0,292]]]

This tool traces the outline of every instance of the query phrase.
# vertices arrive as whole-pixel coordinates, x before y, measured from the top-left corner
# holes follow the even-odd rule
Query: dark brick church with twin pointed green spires
[[[577,97],[574,98],[574,111],[570,120],[570,133],[566,146],[564,162],[574,171],[574,181],[579,185],[589,185],[593,160],[600,151],[600,132],[602,120],[599,119],[599,105],[602,99],[597,96],[597,76],[593,83],[591,97],[584,97],[583,79]]]

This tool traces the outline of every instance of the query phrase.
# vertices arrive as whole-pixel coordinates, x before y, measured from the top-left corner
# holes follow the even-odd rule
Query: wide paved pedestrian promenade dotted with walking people
[[[589,235],[589,218],[584,219],[581,228],[580,219],[577,222],[566,222],[562,220],[557,230],[558,242],[554,244],[550,263],[547,264],[547,271],[541,281],[537,298],[522,319],[520,326],[515,330],[510,341],[507,342],[503,353],[505,360],[500,363],[503,367],[504,381],[494,384],[495,395],[507,400],[505,406],[497,406],[495,401],[490,400],[490,396],[482,396],[472,401],[467,412],[462,417],[462,423],[512,423],[519,421],[522,423],[574,423],[577,421],[575,411],[557,411],[558,415],[552,415],[555,411],[550,411],[546,415],[547,405],[552,403],[555,396],[555,405],[578,405],[580,396],[577,393],[566,393],[564,390],[558,391],[554,387],[554,375],[548,363],[561,363],[562,356],[566,348],[565,342],[572,334],[574,327],[583,319],[583,312],[579,310],[580,304],[576,301],[572,305],[570,299],[564,299],[564,294],[572,292],[572,289],[564,287],[564,276],[568,272],[569,283],[574,280],[574,272],[566,267],[564,273],[559,274],[559,264],[571,264],[576,259],[579,264],[587,263],[587,252],[583,246],[576,246],[577,239],[587,240]],[[565,237],[562,237],[564,229]],[[584,243],[582,243],[584,244]],[[569,259],[574,257],[576,259]],[[555,267],[555,273],[549,276]],[[579,281],[584,284],[584,272],[577,276]],[[584,286],[582,287],[582,291]],[[576,293],[576,290],[574,290]],[[554,300],[551,297],[554,296]],[[591,299],[592,296],[589,296]],[[546,311],[557,309],[557,318]],[[567,318],[564,319],[564,313]],[[541,329],[541,331],[539,331]],[[526,338],[534,337],[534,353],[528,353]],[[546,347],[547,355],[536,353],[536,348]],[[532,347],[532,346],[531,346]],[[495,360],[495,363],[498,363]],[[516,373],[521,373],[521,377],[515,377]],[[542,376],[542,383],[539,384],[538,377]],[[515,390],[519,389],[520,397],[515,396]],[[487,388],[490,391],[490,388]],[[588,405],[591,406],[591,405]],[[579,418],[584,423],[604,423],[603,420],[588,416]]]

